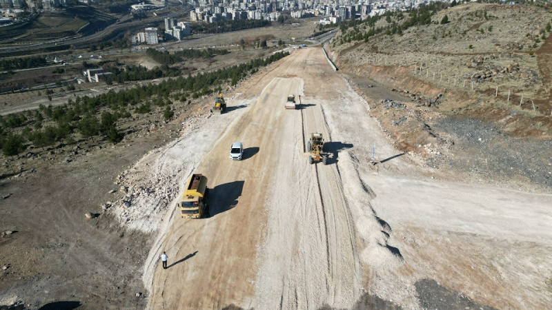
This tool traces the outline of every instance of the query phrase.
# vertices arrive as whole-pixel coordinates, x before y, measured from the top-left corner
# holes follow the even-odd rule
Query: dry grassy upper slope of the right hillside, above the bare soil
[[[450,23],[441,25],[445,14]],[[542,60],[552,49],[541,39],[550,35],[550,12],[538,6],[469,3],[438,12],[432,20],[431,25],[404,30],[402,36],[384,34],[368,43],[335,45],[338,61],[401,90],[444,93],[441,112],[502,122],[520,136],[552,134],[547,83],[552,62]],[[384,19],[378,23],[387,24]]]

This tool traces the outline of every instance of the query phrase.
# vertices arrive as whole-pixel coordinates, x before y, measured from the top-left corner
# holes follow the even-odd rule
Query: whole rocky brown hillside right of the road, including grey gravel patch
[[[433,3],[344,23],[327,47],[403,151],[473,180],[549,188],[551,12]]]

